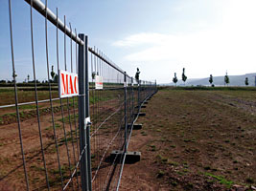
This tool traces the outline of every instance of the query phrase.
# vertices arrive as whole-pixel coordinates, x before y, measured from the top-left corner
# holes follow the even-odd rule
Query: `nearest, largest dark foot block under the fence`
[[[114,150],[110,154],[110,160],[113,161],[114,159],[116,161],[120,161],[122,159],[124,152],[119,150]],[[141,152],[138,151],[128,151],[126,161],[125,163],[131,164],[135,163],[137,161],[140,161],[141,158]]]

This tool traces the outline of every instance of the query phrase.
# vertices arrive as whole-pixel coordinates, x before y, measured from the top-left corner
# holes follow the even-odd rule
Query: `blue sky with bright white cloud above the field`
[[[98,47],[131,76],[137,67],[141,79],[158,83],[172,82],[175,73],[180,79],[183,68],[188,78],[256,73],[255,0],[48,0],[48,7],[54,12],[58,7],[62,21],[65,14],[67,24],[88,35],[89,46]],[[36,74],[45,79],[44,18],[36,11],[33,15]],[[1,0],[1,79],[12,79],[9,22],[8,1]],[[33,74],[25,1],[12,0],[12,27],[17,77],[23,80]],[[51,24],[48,35],[49,59],[55,62]]]

